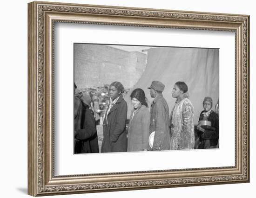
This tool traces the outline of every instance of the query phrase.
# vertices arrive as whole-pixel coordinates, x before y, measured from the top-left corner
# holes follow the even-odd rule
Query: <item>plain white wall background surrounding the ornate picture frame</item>
[[[56,1],[56,0],[52,0]],[[28,197],[27,195],[27,0],[1,2],[0,31],[0,195]],[[56,1],[58,2],[58,0]],[[213,13],[236,13],[250,15],[250,54],[256,53],[256,13],[250,0],[62,0],[109,6],[147,7]],[[256,124],[255,58],[250,58],[250,167],[251,182],[245,184],[208,185],[183,188],[151,189],[140,191],[104,192],[93,194],[63,195],[60,197],[130,198],[130,197],[208,197],[251,198],[256,188]]]

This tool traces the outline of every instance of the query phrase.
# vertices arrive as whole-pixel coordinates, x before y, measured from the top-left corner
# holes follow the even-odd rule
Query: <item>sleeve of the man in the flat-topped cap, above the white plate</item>
[[[155,103],[156,105],[156,115],[155,115],[155,137],[154,137],[154,143],[153,148],[157,149],[162,144],[163,138],[164,138],[164,130],[165,130],[165,109],[162,102]]]

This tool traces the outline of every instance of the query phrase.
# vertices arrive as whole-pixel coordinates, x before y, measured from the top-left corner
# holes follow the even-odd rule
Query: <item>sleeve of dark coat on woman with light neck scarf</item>
[[[126,119],[127,119],[127,103],[123,100],[120,102],[117,109],[115,128],[111,132],[109,139],[111,142],[116,142],[119,136],[123,133],[126,128]]]

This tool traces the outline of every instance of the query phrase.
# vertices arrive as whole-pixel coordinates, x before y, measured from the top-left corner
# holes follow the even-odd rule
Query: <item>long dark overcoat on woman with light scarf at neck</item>
[[[127,103],[120,96],[103,121],[101,153],[127,151],[126,119]]]

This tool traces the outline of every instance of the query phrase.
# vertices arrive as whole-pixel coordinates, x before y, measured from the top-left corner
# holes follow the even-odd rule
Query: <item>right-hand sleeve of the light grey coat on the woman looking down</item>
[[[148,137],[149,137],[149,125],[150,125],[150,113],[148,108],[143,112],[141,117],[142,128],[142,149],[148,149]]]

